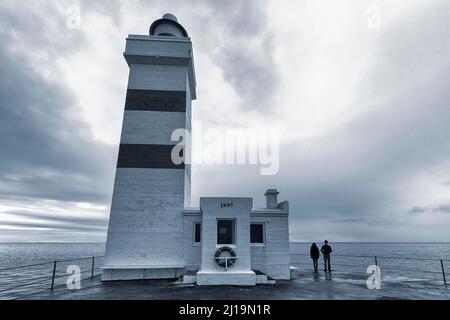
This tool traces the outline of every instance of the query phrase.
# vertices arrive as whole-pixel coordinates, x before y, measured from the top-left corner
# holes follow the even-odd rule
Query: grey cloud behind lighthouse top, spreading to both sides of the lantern
[[[273,35],[267,28],[266,1],[100,0],[81,1],[80,4],[82,12],[111,16],[117,24],[123,22],[121,11],[148,13],[146,28],[164,13],[158,11],[155,16],[155,8],[166,8],[178,15],[180,23],[188,29],[194,39],[194,50],[202,47],[220,67],[224,80],[242,99],[242,108],[270,111],[273,107],[279,76],[274,67]],[[146,28],[142,29],[143,33]]]

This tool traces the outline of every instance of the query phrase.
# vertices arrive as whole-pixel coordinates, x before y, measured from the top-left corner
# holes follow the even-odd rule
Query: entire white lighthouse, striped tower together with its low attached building
[[[289,204],[201,198],[191,206],[189,165],[173,163],[176,129],[191,131],[196,99],[192,43],[173,15],[149,36],[130,35],[130,67],[103,280],[169,279],[255,285],[289,279]]]

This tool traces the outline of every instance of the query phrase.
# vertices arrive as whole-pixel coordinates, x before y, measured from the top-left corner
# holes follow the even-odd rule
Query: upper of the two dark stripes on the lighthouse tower
[[[186,92],[128,89],[125,110],[186,112]]]

